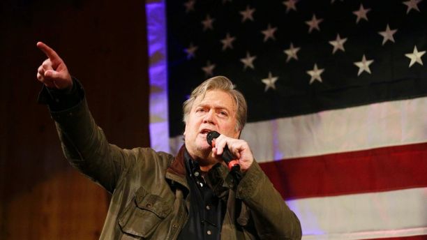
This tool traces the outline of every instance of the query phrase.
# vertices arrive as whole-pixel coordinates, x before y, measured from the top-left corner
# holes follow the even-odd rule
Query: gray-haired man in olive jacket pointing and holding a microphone
[[[226,77],[203,82],[183,105],[185,144],[177,156],[109,144],[80,83],[54,50],[38,68],[39,101],[50,107],[71,165],[112,193],[100,239],[301,239],[301,225],[239,140],[246,101]],[[220,136],[207,143],[207,134]],[[232,176],[225,149],[240,165]]]

